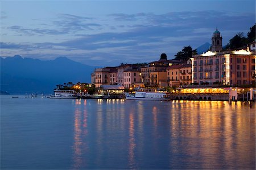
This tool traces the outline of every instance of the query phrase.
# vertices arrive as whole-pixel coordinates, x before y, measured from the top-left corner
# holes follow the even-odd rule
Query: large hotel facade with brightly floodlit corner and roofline
[[[255,52],[208,51],[193,55],[192,83],[249,85],[255,83]]]

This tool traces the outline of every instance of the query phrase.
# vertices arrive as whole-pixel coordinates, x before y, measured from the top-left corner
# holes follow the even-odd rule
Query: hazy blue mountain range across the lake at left
[[[38,59],[0,57],[1,90],[10,94],[52,93],[57,84],[90,82],[93,66],[84,65],[67,57],[42,61]]]

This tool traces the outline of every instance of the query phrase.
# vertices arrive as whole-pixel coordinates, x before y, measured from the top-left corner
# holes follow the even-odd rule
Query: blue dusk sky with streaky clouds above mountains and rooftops
[[[4,1],[0,56],[40,60],[66,56],[83,64],[148,63],[161,53],[208,42],[222,45],[255,23],[255,0]]]

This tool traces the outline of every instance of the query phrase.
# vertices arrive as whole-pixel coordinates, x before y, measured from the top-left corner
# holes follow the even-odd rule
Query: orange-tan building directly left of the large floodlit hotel
[[[167,68],[169,86],[187,85],[192,82],[191,64],[172,65]]]

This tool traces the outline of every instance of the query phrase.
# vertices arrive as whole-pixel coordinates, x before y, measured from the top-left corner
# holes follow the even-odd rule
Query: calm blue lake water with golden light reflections
[[[255,104],[1,96],[1,169],[255,169]]]

